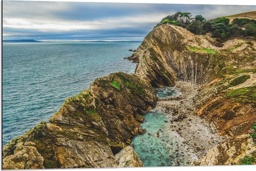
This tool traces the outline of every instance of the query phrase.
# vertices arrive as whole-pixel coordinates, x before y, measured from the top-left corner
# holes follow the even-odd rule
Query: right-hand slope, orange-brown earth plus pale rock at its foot
[[[203,85],[195,98],[196,114],[227,138],[192,162],[194,165],[256,164],[256,144],[250,134],[256,123],[255,57],[226,67],[218,78]]]

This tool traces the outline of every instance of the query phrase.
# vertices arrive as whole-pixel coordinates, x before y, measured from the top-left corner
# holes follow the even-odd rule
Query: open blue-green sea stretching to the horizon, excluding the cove
[[[2,145],[58,111],[109,73],[134,72],[124,57],[141,42],[4,43]]]

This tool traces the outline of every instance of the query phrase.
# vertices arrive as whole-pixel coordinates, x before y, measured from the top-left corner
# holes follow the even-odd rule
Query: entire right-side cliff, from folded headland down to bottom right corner
[[[136,75],[153,86],[173,86],[177,80],[201,86],[195,114],[226,140],[193,165],[255,164],[255,139],[249,133],[255,133],[256,123],[256,43],[232,39],[217,47],[215,42],[210,35],[165,24],[153,29],[129,59],[138,63]]]

